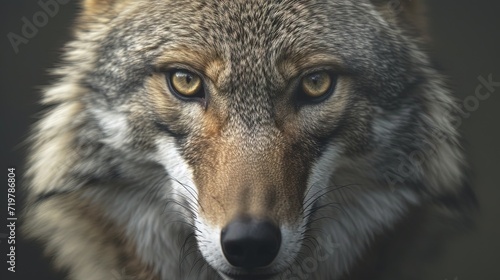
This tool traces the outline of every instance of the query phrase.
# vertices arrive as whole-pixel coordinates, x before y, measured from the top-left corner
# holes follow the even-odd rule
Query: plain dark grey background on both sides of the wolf
[[[0,154],[2,178],[7,167],[23,173],[28,127],[37,118],[40,86],[50,84],[47,70],[54,66],[67,40],[77,11],[75,3],[62,5],[57,15],[40,28],[35,37],[16,54],[7,39],[9,32],[21,33],[21,18],[31,19],[40,11],[38,1],[6,0],[0,4],[1,110]],[[493,76],[500,82],[500,1],[427,1],[434,56],[449,76],[459,100],[473,96],[479,76]],[[477,228],[444,244],[444,256],[435,263],[429,280],[500,279],[500,87],[477,110],[463,119],[460,127],[474,171],[481,212]],[[2,188],[6,188],[4,185]],[[0,225],[5,223],[6,190],[0,190]],[[22,197],[22,193],[17,193]],[[5,226],[0,234],[7,233]],[[15,274],[7,272],[6,240],[0,239],[1,279],[58,279],[49,274],[47,263],[31,243],[18,235]],[[417,268],[415,268],[417,269]],[[402,279],[404,280],[404,279]]]

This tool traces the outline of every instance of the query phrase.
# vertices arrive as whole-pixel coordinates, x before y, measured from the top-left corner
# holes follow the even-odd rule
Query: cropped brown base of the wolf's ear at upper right
[[[422,0],[370,0],[389,21],[403,21],[425,34],[425,7]]]

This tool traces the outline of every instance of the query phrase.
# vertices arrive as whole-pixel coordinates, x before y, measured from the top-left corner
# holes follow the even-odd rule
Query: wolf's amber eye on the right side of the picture
[[[302,98],[320,101],[335,89],[336,77],[327,71],[318,71],[302,78],[300,91]]]

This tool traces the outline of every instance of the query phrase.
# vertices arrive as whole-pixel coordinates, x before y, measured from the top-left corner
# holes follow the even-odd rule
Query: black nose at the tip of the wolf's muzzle
[[[278,255],[281,232],[269,221],[239,218],[222,230],[221,244],[224,256],[233,266],[245,269],[264,267]]]

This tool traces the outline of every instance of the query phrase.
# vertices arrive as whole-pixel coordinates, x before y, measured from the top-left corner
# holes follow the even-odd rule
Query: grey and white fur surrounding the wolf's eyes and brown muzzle
[[[168,105],[157,110],[151,97],[151,79],[164,67],[157,61],[172,49],[223,61],[218,80],[206,81],[213,95],[206,106],[223,107],[220,135],[244,139],[241,154],[272,147],[282,135],[278,123],[290,119],[278,108],[289,105],[302,73],[283,73],[282,61],[314,54],[337,61],[326,65],[339,73],[334,95],[293,109],[307,131],[296,142],[311,162],[303,170],[304,211],[289,225],[287,253],[269,269],[276,279],[315,258],[318,239],[333,240],[334,253],[294,277],[357,279],[363,274],[356,271],[370,269],[362,260],[372,242],[397,232],[411,213],[432,209],[431,216],[449,218],[445,213],[461,216],[467,208],[453,98],[417,27],[380,8],[389,1],[91,2],[105,12],[83,11],[55,71],[60,79],[46,91],[44,102],[54,108],[33,134],[25,212],[25,232],[46,244],[70,279],[109,279],[116,271],[217,279],[232,269],[213,253],[217,234],[200,218],[193,180],[190,145],[201,137],[197,120],[207,109],[166,92]],[[402,162],[416,153],[423,159],[402,174]],[[340,210],[327,207],[334,204]],[[75,221],[102,238],[72,233]]]

